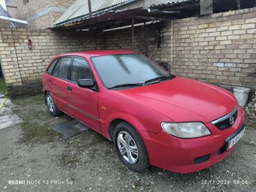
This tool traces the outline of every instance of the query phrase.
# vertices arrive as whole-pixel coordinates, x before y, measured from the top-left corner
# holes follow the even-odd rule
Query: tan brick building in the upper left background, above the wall
[[[47,28],[71,6],[75,0],[6,0],[12,18],[28,21],[30,28]]]

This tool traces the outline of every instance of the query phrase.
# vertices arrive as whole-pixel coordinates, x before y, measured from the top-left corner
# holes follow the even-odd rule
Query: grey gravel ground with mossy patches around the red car
[[[71,118],[48,115],[42,95],[12,102],[23,122],[0,130],[0,191],[256,191],[253,123],[235,151],[209,169],[178,174],[151,166],[134,173],[100,134],[89,129],[63,140],[54,133]]]

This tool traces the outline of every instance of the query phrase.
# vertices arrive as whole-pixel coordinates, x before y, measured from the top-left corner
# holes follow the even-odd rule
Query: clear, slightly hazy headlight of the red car
[[[208,128],[201,122],[165,123],[162,128],[166,133],[181,138],[195,138],[210,135]]]

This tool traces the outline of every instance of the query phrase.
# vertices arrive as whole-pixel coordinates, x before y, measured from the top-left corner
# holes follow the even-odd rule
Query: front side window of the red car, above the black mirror
[[[79,79],[92,79],[93,75],[89,64],[81,58],[75,57],[71,70],[71,81],[77,83]]]

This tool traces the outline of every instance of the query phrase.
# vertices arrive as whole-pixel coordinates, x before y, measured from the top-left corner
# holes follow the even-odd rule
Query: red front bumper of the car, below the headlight
[[[244,126],[244,113],[238,108],[238,115],[230,128],[220,131],[211,122],[205,124],[212,135],[194,139],[181,139],[173,137],[162,131],[154,134],[143,133],[143,140],[149,155],[149,161],[153,166],[158,166],[176,173],[192,173],[206,169],[228,156],[236,147],[223,150],[230,135],[233,135],[241,126]],[[198,162],[196,158],[207,157],[205,162]]]

